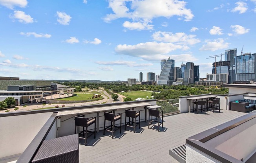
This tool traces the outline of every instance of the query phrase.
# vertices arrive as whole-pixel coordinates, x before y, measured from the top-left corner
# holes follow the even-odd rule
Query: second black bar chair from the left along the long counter
[[[105,130],[108,132],[112,132],[112,139],[114,136],[114,132],[115,132],[115,127],[120,128],[120,134],[121,134],[121,126],[122,126],[122,114],[113,114],[111,112],[104,112],[104,130],[103,130],[103,135],[105,135]],[[111,121],[111,125],[106,127],[106,120],[107,121]],[[115,121],[120,120],[120,127],[115,126]],[[113,125],[112,125],[113,124]],[[108,130],[108,128],[110,128],[111,130]]]

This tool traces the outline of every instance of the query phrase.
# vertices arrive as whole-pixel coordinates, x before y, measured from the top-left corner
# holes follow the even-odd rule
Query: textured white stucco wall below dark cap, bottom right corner
[[[220,162],[187,144],[186,163],[220,163]]]

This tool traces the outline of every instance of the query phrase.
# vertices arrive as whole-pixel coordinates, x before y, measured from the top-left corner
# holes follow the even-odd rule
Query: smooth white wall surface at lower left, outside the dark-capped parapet
[[[0,118],[0,158],[24,152],[52,112]]]

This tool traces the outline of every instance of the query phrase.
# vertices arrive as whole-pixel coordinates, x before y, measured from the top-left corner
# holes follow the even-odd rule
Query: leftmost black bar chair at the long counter
[[[92,125],[93,123],[94,123],[94,131],[89,131],[88,127],[90,125]],[[80,131],[78,133],[78,135],[83,134],[83,136],[84,136],[84,132],[85,132],[85,137],[84,138],[83,137],[79,137],[81,139],[85,139],[85,146],[87,144],[87,138],[89,136],[91,136],[93,133],[94,133],[94,139],[96,138],[96,117],[85,118],[84,115],[82,115],[82,116],[75,116],[75,134],[76,134],[76,131],[77,131],[77,126],[83,127],[83,130]],[[84,128],[86,128],[86,130],[84,130]],[[88,136],[88,132],[91,132],[92,134],[90,134]]]

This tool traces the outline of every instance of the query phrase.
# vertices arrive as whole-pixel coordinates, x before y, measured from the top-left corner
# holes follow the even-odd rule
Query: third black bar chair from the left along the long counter
[[[135,111],[135,110],[125,110],[125,125],[124,125],[124,130],[126,130],[126,126],[133,127],[134,130],[133,132],[135,133],[135,127],[139,125],[139,129],[141,128],[140,122],[141,122],[141,111]],[[129,117],[129,122],[126,123],[126,117]],[[139,117],[139,123],[136,123],[136,118]],[[130,120],[132,118],[132,121]],[[134,120],[134,121],[133,121]],[[134,123],[133,126],[130,125],[130,123]],[[129,125],[128,125],[129,124]],[[136,125],[137,124],[137,125]]]

